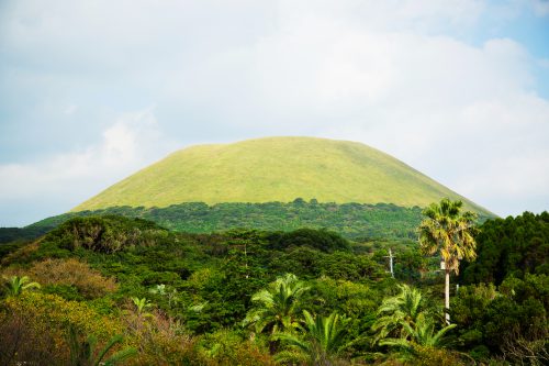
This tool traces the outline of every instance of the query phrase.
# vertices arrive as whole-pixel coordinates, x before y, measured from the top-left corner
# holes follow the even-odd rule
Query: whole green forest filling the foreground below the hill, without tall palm
[[[314,224],[300,207],[317,210],[312,218],[329,212],[296,200],[272,204],[273,212],[296,211],[295,228],[251,225],[251,209],[240,225],[248,229],[223,230],[167,220],[212,210],[200,203],[119,208],[56,219],[37,239],[12,231],[0,244],[0,364],[549,363],[549,213],[471,228],[475,260],[463,256],[449,267],[447,259],[447,269],[459,268],[448,323],[440,254],[425,253],[417,240],[426,211],[370,208],[379,228],[394,212],[406,222],[377,231],[360,221],[347,226],[345,214]],[[228,218],[225,209],[213,210]]]

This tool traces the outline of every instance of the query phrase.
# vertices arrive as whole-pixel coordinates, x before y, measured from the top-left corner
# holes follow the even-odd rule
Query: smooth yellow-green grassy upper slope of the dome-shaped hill
[[[460,197],[404,163],[360,143],[269,137],[178,151],[72,211],[181,202],[386,202],[425,207]]]

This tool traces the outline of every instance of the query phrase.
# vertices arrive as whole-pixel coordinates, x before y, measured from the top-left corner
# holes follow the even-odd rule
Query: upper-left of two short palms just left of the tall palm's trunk
[[[418,314],[423,310],[422,292],[407,285],[399,285],[400,293],[385,298],[378,309],[378,319],[372,324],[372,330],[377,333],[374,343],[388,335],[403,335],[403,324],[415,323]]]

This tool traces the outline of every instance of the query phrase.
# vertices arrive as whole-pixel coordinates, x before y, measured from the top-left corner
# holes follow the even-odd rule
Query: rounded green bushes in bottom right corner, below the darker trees
[[[526,274],[492,284],[462,287],[453,301],[452,320],[459,343],[482,358],[502,354],[513,363],[549,361],[549,277]]]

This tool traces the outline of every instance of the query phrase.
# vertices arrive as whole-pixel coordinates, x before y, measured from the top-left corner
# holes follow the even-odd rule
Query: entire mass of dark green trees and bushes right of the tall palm
[[[477,243],[477,260],[466,263],[461,275],[475,285],[460,288],[451,312],[460,342],[474,355],[547,364],[549,214],[489,220]]]

